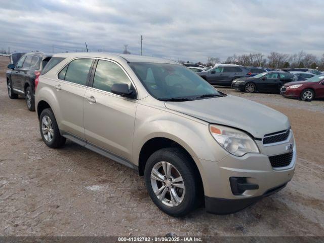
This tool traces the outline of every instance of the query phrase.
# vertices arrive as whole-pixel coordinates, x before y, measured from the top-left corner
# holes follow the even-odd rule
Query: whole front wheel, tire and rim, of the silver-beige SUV
[[[163,148],[145,165],[145,184],[153,203],[171,216],[184,216],[197,205],[199,184],[190,159],[179,148]]]

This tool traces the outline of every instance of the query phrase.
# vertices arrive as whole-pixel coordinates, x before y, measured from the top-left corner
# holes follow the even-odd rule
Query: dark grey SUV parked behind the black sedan
[[[231,86],[232,81],[239,77],[250,77],[251,72],[243,66],[217,66],[206,72],[198,72],[211,85]]]

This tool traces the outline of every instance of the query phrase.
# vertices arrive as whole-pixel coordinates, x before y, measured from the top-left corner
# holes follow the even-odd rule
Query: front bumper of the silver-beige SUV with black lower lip
[[[289,145],[293,149],[289,149]],[[293,178],[296,166],[296,144],[293,133],[284,142],[264,145],[258,141],[260,153],[248,153],[237,157],[228,154],[218,162],[200,160],[203,169],[205,206],[208,212],[216,214],[234,213],[282,188]],[[292,152],[288,166],[274,168],[269,156]],[[257,185],[239,194],[233,191],[231,177],[244,178],[247,184]]]

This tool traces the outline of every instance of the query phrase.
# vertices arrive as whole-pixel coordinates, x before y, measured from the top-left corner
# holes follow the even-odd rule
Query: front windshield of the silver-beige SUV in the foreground
[[[146,90],[159,100],[190,99],[203,95],[223,96],[183,65],[167,63],[129,63],[129,65]]]

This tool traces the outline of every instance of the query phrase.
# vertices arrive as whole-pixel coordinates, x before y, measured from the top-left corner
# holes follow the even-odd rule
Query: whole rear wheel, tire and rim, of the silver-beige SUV
[[[39,116],[39,129],[44,143],[51,148],[64,145],[66,138],[61,136],[52,109],[44,109]]]

